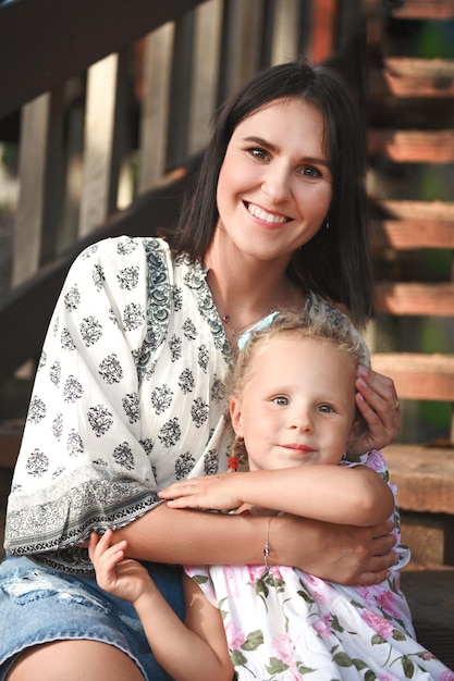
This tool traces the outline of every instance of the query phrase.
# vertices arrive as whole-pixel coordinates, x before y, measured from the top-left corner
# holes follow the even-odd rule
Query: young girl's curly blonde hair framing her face
[[[284,334],[295,334],[303,338],[318,339],[321,343],[330,343],[345,354],[353,367],[364,362],[364,339],[356,332],[334,326],[327,322],[310,321],[302,312],[285,310],[275,315],[270,315],[272,321],[267,325],[259,325],[247,332],[247,340],[238,350],[235,362],[228,376],[226,388],[230,396],[240,397],[244,386],[249,380],[254,366],[254,357],[257,350],[275,337]],[[333,376],[335,381],[335,376]],[[367,430],[364,417],[356,408],[354,419],[356,437]],[[236,438],[232,445],[231,456],[242,463],[246,460],[246,450],[243,441]]]

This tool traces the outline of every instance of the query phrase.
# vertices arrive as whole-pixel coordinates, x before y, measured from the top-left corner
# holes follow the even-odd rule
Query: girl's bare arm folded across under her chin
[[[262,506],[340,524],[371,525],[389,518],[394,497],[365,467],[302,466],[193,478],[159,493],[171,508],[233,509]]]

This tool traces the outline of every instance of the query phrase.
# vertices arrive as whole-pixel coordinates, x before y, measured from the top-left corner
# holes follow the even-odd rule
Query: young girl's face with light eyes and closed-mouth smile
[[[250,470],[339,463],[355,419],[356,368],[346,352],[291,332],[258,346],[249,371],[230,410]]]

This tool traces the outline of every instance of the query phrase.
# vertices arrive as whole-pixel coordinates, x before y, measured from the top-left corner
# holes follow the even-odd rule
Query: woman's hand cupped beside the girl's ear
[[[392,379],[359,366],[356,388],[356,405],[369,430],[354,443],[352,450],[365,454],[370,449],[382,449],[401,429],[401,409],[394,383]]]

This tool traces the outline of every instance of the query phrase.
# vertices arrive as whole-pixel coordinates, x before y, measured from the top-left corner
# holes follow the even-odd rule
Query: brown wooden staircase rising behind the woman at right
[[[454,163],[454,48],[451,55],[433,58],[419,58],[414,51],[415,36],[428,25],[426,22],[451,29],[453,45],[453,0],[406,0],[391,12],[391,21],[376,13],[368,34],[369,193],[378,271],[372,363],[393,377],[403,406],[403,437],[384,454],[398,487],[404,534],[406,518],[415,524],[417,513],[416,522],[421,527],[419,540],[412,546],[414,559],[433,561],[425,547],[428,525],[437,515],[442,529],[439,558],[434,560],[438,567],[454,565],[453,421],[446,424],[442,442],[421,444],[410,439],[412,425],[417,426],[420,412],[416,411],[410,428],[405,428],[405,420],[408,416],[412,419],[414,405],[421,400],[454,403],[454,333],[447,321],[454,318],[454,202],[449,200],[454,174],[451,194],[441,198],[415,199],[412,184],[421,170],[439,173],[443,169],[447,174],[446,169],[452,170]],[[426,249],[446,251],[451,265],[444,276],[435,273],[434,281],[430,280],[421,265],[420,253]],[[421,350],[418,318],[446,320],[447,342],[443,347],[433,347],[432,340],[430,351]],[[386,324],[400,332],[401,342],[394,347],[382,342],[380,334]]]

